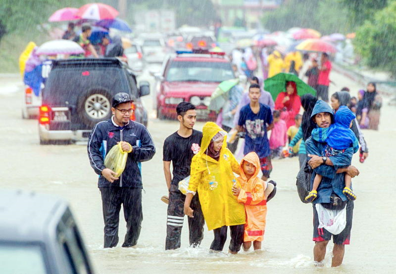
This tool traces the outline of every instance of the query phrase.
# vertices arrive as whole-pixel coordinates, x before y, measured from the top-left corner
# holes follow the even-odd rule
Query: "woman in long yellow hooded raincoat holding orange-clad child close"
[[[213,122],[203,126],[200,151],[191,162],[191,178],[184,203],[184,213],[193,217],[191,199],[198,190],[207,228],[213,229],[211,250],[222,251],[227,227],[231,230],[230,253],[241,249],[246,222],[245,208],[232,193],[239,174],[239,164],[227,148],[226,132]]]

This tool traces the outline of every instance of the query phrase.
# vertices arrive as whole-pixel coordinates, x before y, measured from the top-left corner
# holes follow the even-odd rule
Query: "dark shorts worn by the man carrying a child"
[[[330,241],[333,236],[333,243],[335,244],[349,244],[350,241],[350,229],[352,228],[352,216],[353,216],[353,201],[347,202],[347,224],[340,234],[333,235],[325,228],[318,228],[319,218],[316,212],[315,205],[313,205],[313,238],[315,242]]]

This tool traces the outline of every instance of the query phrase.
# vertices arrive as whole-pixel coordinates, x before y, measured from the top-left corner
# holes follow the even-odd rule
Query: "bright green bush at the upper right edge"
[[[396,74],[396,1],[358,28],[354,44],[367,65]]]

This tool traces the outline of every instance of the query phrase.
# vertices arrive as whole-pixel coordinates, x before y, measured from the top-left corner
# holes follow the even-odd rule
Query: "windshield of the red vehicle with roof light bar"
[[[172,61],[166,74],[168,82],[223,82],[233,78],[228,62]]]

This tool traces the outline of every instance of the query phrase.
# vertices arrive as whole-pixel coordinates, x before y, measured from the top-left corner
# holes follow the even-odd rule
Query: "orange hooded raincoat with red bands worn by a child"
[[[244,161],[253,164],[256,171],[247,181],[244,172]],[[237,178],[241,184],[241,192],[238,195],[238,202],[245,204],[246,224],[244,242],[262,241],[264,238],[265,217],[267,215],[267,200],[264,190],[267,183],[257,177],[260,171],[260,159],[255,152],[248,153],[239,166],[241,176]]]

